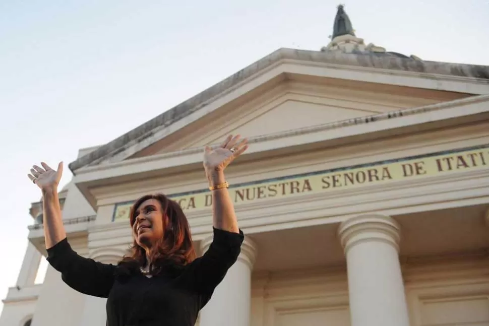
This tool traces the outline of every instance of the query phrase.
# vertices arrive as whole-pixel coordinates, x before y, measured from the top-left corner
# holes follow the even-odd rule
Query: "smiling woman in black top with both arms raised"
[[[117,266],[72,250],[57,197],[63,163],[57,171],[45,163],[42,168],[34,165],[28,176],[42,191],[49,264],[76,291],[107,298],[109,326],[194,325],[199,310],[240,252],[244,236],[238,229],[224,169],[247,148],[247,140],[239,136],[229,136],[214,149],[205,148],[214,239],[202,257],[195,258],[189,224],[178,204],[162,194],[145,195],[131,209],[131,254]]]

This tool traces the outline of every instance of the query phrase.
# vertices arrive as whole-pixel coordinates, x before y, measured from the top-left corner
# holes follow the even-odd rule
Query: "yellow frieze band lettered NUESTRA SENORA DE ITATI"
[[[489,147],[489,146],[488,146]],[[276,182],[257,182],[250,187],[232,189],[234,202],[239,204],[255,200],[300,194],[303,192],[318,192],[321,190],[336,190],[341,187],[361,186],[384,180],[402,179],[404,177],[426,176],[437,173],[447,173],[456,170],[478,168],[489,165],[488,147],[479,151],[464,151],[449,155],[427,156],[422,160],[409,160],[394,164],[372,165],[362,169],[347,169],[344,171],[314,174],[307,178],[290,176],[288,179]],[[396,170],[392,170],[395,168]],[[402,171],[398,171],[402,170]],[[396,172],[393,174],[393,172]],[[313,189],[313,185],[321,182],[321,186]],[[171,197],[171,195],[170,195]],[[178,195],[171,197],[182,210],[208,209],[213,205],[212,193],[199,192],[195,195]],[[114,220],[129,217],[131,205],[120,203],[113,213]]]

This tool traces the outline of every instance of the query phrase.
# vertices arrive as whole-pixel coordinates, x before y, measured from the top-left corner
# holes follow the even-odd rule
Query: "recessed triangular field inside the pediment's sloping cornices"
[[[163,154],[217,144],[227,135],[276,135],[378,113],[439,103],[460,95],[426,94],[424,90],[369,89],[358,83],[334,86],[286,80],[273,89],[235,107],[223,107],[195,121],[133,157]],[[404,90],[405,91],[405,90]],[[413,96],[416,94],[417,96]]]

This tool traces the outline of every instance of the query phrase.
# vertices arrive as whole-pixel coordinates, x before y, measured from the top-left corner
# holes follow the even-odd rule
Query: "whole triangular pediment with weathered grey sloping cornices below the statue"
[[[486,84],[467,84],[465,77],[454,82],[452,70],[436,64],[423,63],[423,75],[396,60],[370,62],[358,55],[280,49],[77,159],[70,168],[75,172],[213,144],[231,133],[271,135],[487,92]]]

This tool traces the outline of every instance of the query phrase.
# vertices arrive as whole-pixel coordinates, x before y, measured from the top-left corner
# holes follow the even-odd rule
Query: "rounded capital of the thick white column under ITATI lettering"
[[[399,252],[401,228],[392,217],[382,214],[365,214],[350,218],[338,227],[338,236],[345,253],[353,245],[365,241],[382,241]]]

